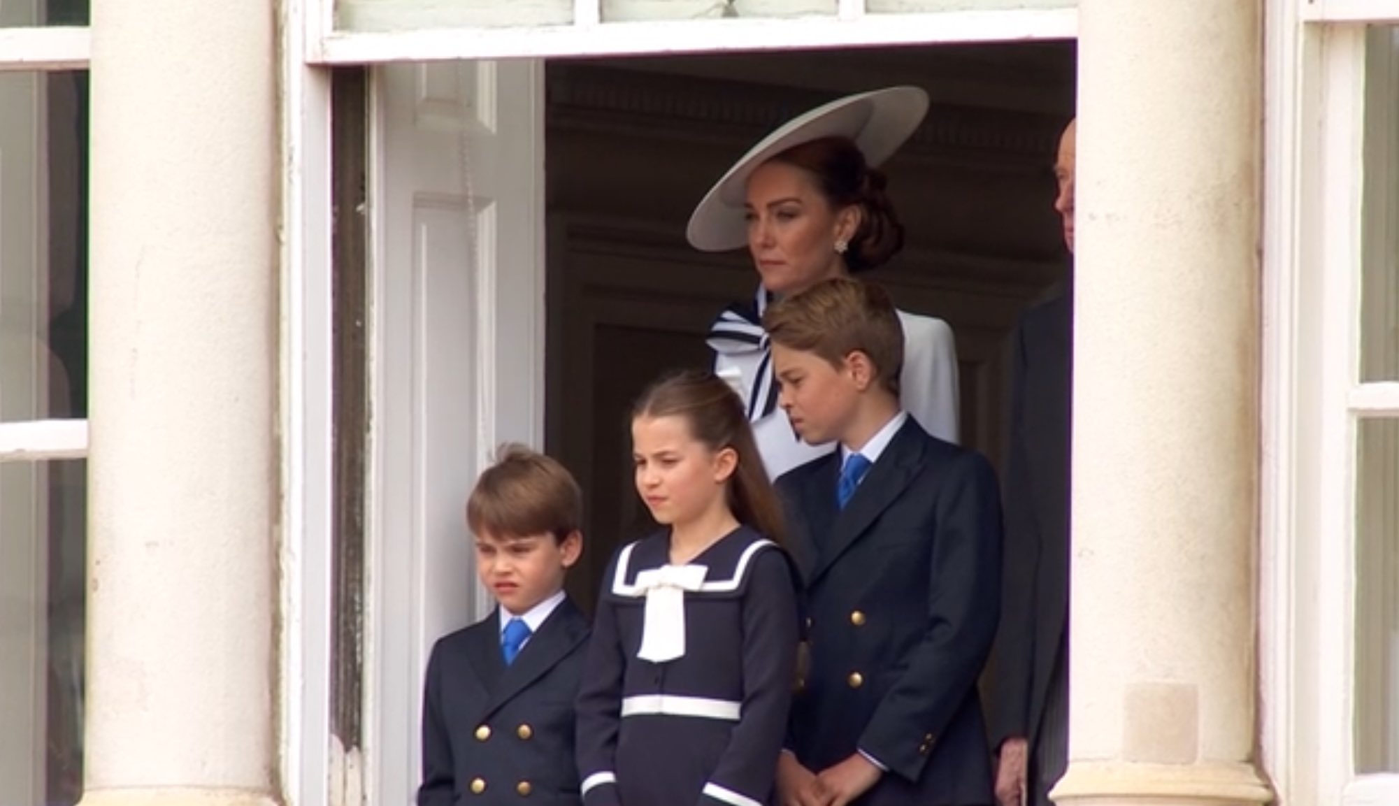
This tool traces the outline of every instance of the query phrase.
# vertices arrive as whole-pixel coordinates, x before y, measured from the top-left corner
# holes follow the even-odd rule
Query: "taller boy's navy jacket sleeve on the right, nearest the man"
[[[1000,610],[1000,495],[978,453],[953,460],[935,502],[928,627],[884,694],[859,749],[916,781],[937,736],[977,695]]]

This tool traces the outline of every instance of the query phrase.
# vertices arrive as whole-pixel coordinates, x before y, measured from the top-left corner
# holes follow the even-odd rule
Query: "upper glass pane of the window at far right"
[[[1360,379],[1399,381],[1399,28],[1371,28],[1365,62]]]

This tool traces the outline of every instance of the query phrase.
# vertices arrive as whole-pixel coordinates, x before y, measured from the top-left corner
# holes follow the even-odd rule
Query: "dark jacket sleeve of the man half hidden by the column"
[[[1011,378],[1010,455],[1006,458],[1006,547],[1000,630],[990,679],[990,746],[1030,735],[1030,681],[1035,656],[1035,577],[1039,530],[1034,518],[1025,451],[1024,326],[1016,329]]]

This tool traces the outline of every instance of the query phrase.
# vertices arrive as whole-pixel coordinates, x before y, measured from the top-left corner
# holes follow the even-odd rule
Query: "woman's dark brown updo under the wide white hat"
[[[810,174],[832,208],[851,204],[860,208],[860,225],[845,252],[851,273],[883,266],[904,248],[904,225],[884,193],[888,179],[865,162],[865,154],[851,139],[821,137],[793,146],[772,161]]]

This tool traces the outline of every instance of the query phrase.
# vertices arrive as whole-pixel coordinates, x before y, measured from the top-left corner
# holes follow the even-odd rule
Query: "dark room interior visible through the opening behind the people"
[[[746,252],[686,243],[690,211],[767,132],[839,95],[912,84],[932,98],[884,167],[905,248],[862,277],[953,327],[961,442],[999,465],[1007,336],[1066,267],[1052,162],[1074,70],[1073,42],[546,66],[546,445],[586,495],[571,581],[586,609],[613,550],[651,528],[632,488],[631,402],[665,369],[708,367],[711,322],[757,288]]]

